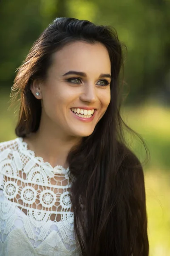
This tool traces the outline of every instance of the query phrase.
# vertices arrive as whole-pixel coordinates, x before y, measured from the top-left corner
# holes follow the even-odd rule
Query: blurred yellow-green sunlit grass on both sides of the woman
[[[1,93],[0,141],[15,138],[17,119],[13,108],[7,111],[8,100]],[[144,166],[150,256],[170,256],[170,108],[147,102],[139,108],[123,108],[122,115],[142,135],[150,150],[150,162]],[[132,144],[144,160],[142,145],[133,140]]]

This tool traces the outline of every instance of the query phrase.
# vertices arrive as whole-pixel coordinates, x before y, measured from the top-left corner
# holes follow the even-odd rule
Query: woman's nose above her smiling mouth
[[[97,93],[96,93],[96,88],[94,84],[85,84],[82,93],[80,94],[79,98],[83,102],[89,102],[89,103],[94,103],[97,100]]]

